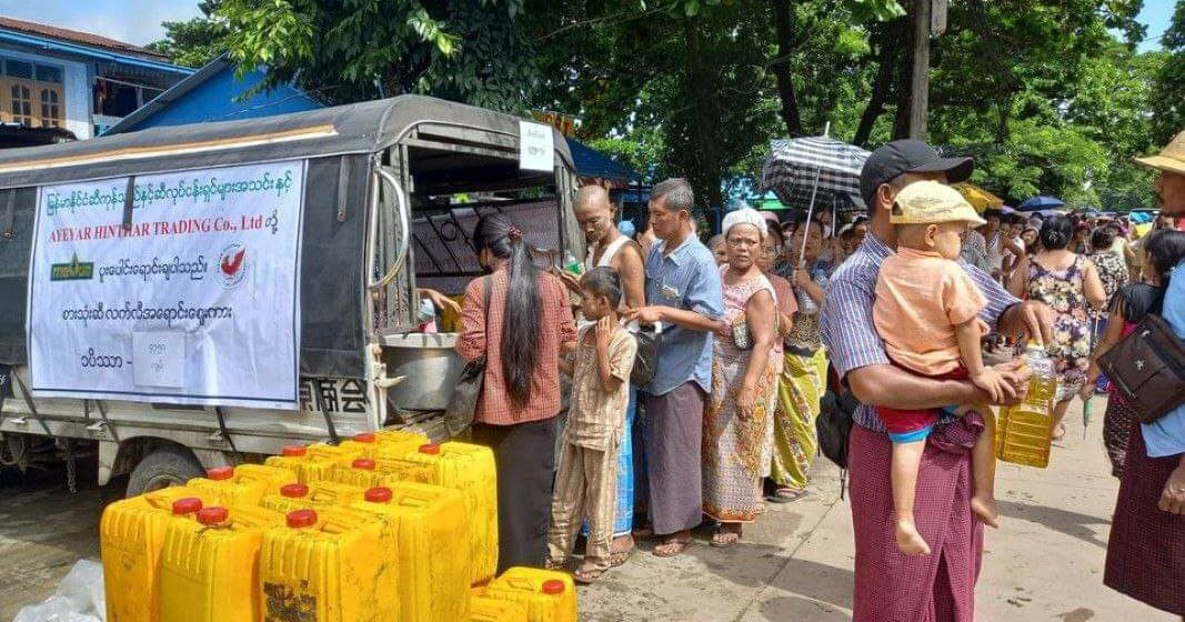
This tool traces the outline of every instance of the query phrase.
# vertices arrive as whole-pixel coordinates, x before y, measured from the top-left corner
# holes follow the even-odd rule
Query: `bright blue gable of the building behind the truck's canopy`
[[[237,81],[235,70],[225,68],[175,102],[169,102],[161,110],[128,128],[127,132],[203,121],[237,121],[324,108],[303,91],[292,86],[261,91],[245,101],[236,100],[262,79],[262,72],[251,71],[243,76],[242,81]]]

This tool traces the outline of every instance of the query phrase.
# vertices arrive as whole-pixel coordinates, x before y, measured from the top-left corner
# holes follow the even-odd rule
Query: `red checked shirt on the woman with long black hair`
[[[506,379],[502,376],[502,318],[506,310],[506,289],[510,271],[497,270],[489,284],[489,325],[486,325],[485,278],[474,278],[465,288],[465,304],[461,310],[461,339],[456,351],[467,361],[486,354],[486,380],[478,400],[474,421],[493,425],[512,425],[546,419],[559,413],[559,346],[576,341],[576,322],[568,302],[568,288],[556,276],[539,274],[539,299],[542,309],[538,325],[537,347],[539,358],[531,374],[531,395],[524,404],[511,402]]]

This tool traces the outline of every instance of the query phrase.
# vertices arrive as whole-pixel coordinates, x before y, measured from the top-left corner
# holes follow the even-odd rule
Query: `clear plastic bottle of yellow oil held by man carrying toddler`
[[[1032,374],[1029,392],[1020,404],[999,409],[995,456],[1005,462],[1045,468],[1053,444],[1057,373],[1053,361],[1035,341],[1025,348],[1025,364]]]

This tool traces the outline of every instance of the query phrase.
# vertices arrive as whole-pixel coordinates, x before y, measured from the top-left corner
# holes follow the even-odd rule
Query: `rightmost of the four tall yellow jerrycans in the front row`
[[[351,506],[377,515],[399,566],[399,622],[466,620],[473,576],[461,493],[402,482],[366,490]]]

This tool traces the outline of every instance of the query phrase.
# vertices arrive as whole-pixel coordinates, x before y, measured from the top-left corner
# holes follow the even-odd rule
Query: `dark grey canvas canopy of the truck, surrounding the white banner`
[[[421,191],[517,172],[519,117],[423,96],[243,121],[150,128],[57,146],[0,150],[0,364],[27,363],[26,294],[38,186],[308,160],[301,242],[301,376],[363,376],[364,267],[373,166],[402,141]],[[430,152],[409,136],[447,135],[463,148]],[[555,133],[557,167],[571,154]],[[495,158],[492,158],[494,154]],[[382,161],[389,161],[383,159]],[[417,166],[416,162],[419,162]],[[488,175],[485,174],[486,171]],[[513,184],[507,185],[513,186]],[[475,190],[475,188],[474,188]],[[410,267],[408,268],[410,269]]]

